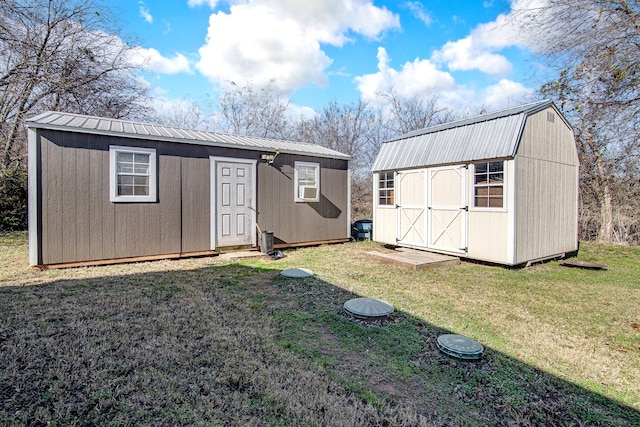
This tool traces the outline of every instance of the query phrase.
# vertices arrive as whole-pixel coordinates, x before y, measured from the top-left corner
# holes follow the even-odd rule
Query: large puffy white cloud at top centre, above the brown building
[[[192,0],[201,4],[204,0]],[[331,58],[321,44],[342,46],[352,34],[375,39],[399,28],[399,18],[371,0],[235,1],[229,13],[209,17],[197,69],[218,84],[263,86],[275,80],[284,91],[325,85]]]

